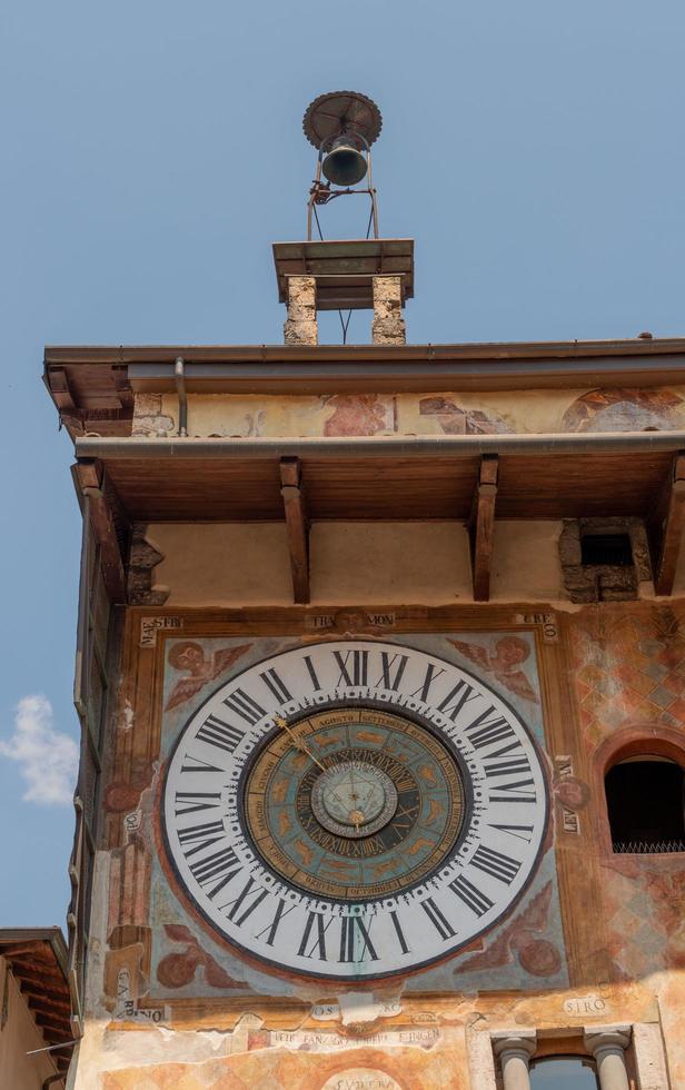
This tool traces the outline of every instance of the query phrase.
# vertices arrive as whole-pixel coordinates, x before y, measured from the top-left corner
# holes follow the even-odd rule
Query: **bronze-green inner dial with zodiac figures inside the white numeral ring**
[[[455,757],[425,727],[371,707],[285,724],[245,792],[256,851],[302,890],[358,901],[419,882],[464,816]]]

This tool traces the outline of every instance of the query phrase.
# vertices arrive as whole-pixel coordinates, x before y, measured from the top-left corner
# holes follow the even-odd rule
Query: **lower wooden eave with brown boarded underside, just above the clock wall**
[[[310,439],[77,439],[132,522],[284,518],[298,459],[307,518],[461,519],[496,455],[497,518],[649,517],[685,433]]]

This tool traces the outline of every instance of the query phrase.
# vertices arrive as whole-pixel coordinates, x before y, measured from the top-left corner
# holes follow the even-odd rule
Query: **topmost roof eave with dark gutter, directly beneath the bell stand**
[[[129,435],[136,393],[439,393],[685,384],[685,338],[478,345],[59,347],[44,380],[72,433]]]

